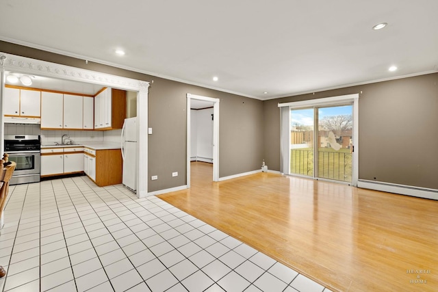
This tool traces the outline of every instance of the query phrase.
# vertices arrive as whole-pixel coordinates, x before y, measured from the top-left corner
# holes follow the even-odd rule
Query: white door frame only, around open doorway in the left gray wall
[[[191,114],[190,102],[192,99],[198,101],[209,101],[213,105],[213,181],[219,181],[219,98],[212,98],[208,96],[201,96],[196,94],[187,94],[187,188],[190,188],[190,146],[191,146]]]

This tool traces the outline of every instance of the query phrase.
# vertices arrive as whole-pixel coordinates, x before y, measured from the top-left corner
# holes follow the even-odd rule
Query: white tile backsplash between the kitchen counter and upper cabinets
[[[113,131],[67,131],[41,130],[39,124],[5,124],[5,135],[41,135],[41,144],[61,142],[62,135],[67,134],[75,143],[84,141],[120,142],[121,130]]]

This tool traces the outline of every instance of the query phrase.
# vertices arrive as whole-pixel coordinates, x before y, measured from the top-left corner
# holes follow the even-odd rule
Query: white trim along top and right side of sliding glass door
[[[352,103],[353,108],[353,152],[352,152],[352,186],[357,186],[359,180],[359,94],[347,94],[341,96],[332,96],[326,98],[316,98],[307,101],[295,101],[290,103],[279,103],[279,107],[289,107],[291,109],[300,109],[305,107],[324,107],[337,105],[339,103]],[[324,178],[313,177],[314,179],[324,180]],[[332,180],[330,180],[332,181]],[[339,182],[341,183],[341,182]]]

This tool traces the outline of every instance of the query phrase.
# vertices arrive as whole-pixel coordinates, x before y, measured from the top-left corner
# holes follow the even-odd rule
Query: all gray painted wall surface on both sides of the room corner
[[[438,73],[257,101],[0,41],[0,51],[151,81],[149,191],[186,183],[186,94],[220,98],[220,177],[279,170],[277,103],[359,93],[359,178],[438,189]],[[172,172],[179,172],[176,178]],[[150,178],[149,178],[150,179]]]

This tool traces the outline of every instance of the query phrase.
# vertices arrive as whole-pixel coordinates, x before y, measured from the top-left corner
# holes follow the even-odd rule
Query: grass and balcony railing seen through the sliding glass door
[[[300,148],[291,150],[291,173],[313,176],[313,149]],[[318,149],[317,177],[329,178],[337,181],[351,182],[352,155],[350,149],[333,148]]]

